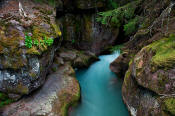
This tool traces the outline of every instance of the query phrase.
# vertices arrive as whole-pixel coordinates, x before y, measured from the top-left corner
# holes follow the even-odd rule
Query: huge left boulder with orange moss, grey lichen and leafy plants
[[[52,7],[7,0],[0,9],[0,91],[14,99],[40,87],[53,60],[59,36]],[[45,43],[44,43],[45,42]]]

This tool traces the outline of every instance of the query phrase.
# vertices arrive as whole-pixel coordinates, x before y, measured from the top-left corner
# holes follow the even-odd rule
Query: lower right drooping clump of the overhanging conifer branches
[[[138,24],[137,22],[138,22],[138,18],[136,17],[124,25],[125,35],[130,35],[136,31],[137,24]]]

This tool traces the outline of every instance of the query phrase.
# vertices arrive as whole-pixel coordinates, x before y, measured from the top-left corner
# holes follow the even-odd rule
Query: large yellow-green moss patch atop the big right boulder
[[[175,65],[175,36],[161,39],[148,46],[154,52],[151,64],[154,70],[164,68],[165,70]]]

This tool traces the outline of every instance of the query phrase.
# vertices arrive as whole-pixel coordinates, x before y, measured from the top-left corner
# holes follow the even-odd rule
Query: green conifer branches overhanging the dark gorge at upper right
[[[138,25],[135,11],[140,2],[141,0],[136,0],[114,10],[99,12],[96,20],[103,25],[115,28],[124,25],[125,34],[132,34],[136,31],[136,26]]]

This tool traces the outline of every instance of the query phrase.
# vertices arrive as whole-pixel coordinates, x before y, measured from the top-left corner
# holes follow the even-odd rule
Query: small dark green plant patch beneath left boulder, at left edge
[[[0,107],[8,105],[14,102],[14,100],[10,99],[6,94],[0,92]]]

